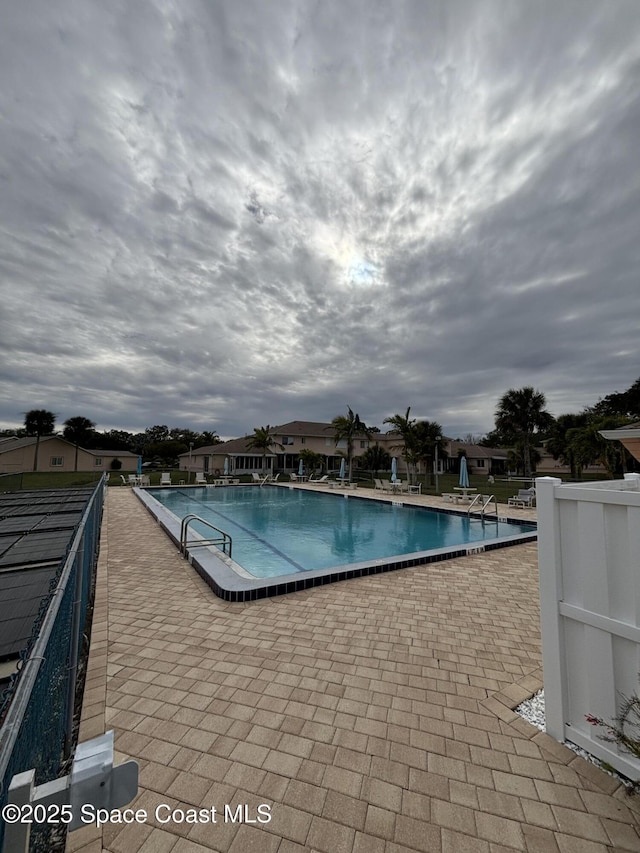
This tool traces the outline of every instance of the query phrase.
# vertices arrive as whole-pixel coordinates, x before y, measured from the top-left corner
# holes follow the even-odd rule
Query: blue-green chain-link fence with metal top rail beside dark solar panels
[[[16,773],[35,769],[35,784],[61,775],[73,740],[77,663],[97,561],[104,502],[93,492],[73,541],[43,602],[22,666],[0,695],[0,808]],[[3,716],[4,715],[4,716]],[[31,850],[50,849],[34,825]],[[4,826],[0,822],[0,849]]]

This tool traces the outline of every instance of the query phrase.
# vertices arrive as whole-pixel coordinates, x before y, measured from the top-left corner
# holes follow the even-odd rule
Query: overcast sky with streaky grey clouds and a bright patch
[[[1,0],[0,426],[640,376],[637,0]]]

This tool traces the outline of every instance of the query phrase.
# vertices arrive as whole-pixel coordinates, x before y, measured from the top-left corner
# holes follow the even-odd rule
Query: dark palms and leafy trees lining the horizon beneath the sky
[[[560,460],[571,471],[572,479],[580,479],[588,465],[602,465],[610,477],[620,477],[626,470],[637,467],[637,462],[616,441],[607,441],[601,430],[617,429],[640,420],[640,378],[626,391],[608,394],[593,406],[578,413],[561,414],[554,417],[546,408],[545,395],[531,386],[511,388],[502,395],[495,410],[495,428],[478,443],[484,447],[507,449],[509,465],[529,477],[535,470],[540,453],[537,448],[545,444],[554,459]],[[398,435],[397,449],[407,462],[409,472],[424,463],[431,470],[436,448],[444,456],[442,427],[436,421],[411,418],[411,407],[404,414],[385,418],[390,431]],[[0,435],[41,436],[54,435],[57,416],[46,409],[32,409],[25,413],[21,429],[2,430]],[[346,415],[336,415],[331,421],[336,445],[344,441],[345,459],[349,477],[353,469],[353,447],[357,437],[372,439],[380,430],[368,427],[351,407]],[[68,418],[62,429],[63,438],[76,447],[88,450],[126,450],[141,455],[146,461],[172,464],[190,448],[197,449],[219,444],[221,438],[215,430],[196,432],[183,427],[169,429],[165,425],[148,427],[144,432],[130,433],[125,430],[98,432],[89,418]],[[255,427],[248,439],[250,448],[263,454],[274,446],[281,446],[273,436],[272,428]],[[393,449],[393,448],[392,448]],[[319,467],[322,457],[314,451],[304,449],[299,453],[308,468]],[[37,453],[36,453],[37,458]],[[391,457],[387,450],[370,444],[358,457],[361,467],[370,471],[389,470]]]

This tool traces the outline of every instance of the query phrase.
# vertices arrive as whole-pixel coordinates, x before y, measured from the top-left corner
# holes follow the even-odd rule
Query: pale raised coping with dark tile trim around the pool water
[[[251,484],[250,484],[251,485]],[[227,487],[233,488],[233,487]],[[291,488],[288,484],[270,485],[269,488]],[[154,487],[155,489],[155,487]],[[180,519],[167,510],[162,504],[147,494],[147,489],[135,487],[134,494],[141,501],[147,511],[155,518],[165,533],[173,540],[176,547],[180,548]],[[336,500],[378,500],[379,503],[389,501],[377,498],[359,496],[354,493],[345,493],[335,496]],[[152,503],[153,501],[153,503]],[[404,503],[401,500],[391,502],[394,506],[403,506],[416,509],[415,504]],[[446,515],[457,515],[464,517],[464,512],[440,507],[424,507],[432,512],[440,512]],[[413,568],[415,566],[428,565],[429,563],[442,560],[452,560],[456,557],[464,557],[469,554],[480,554],[486,551],[494,551],[498,548],[508,548],[512,545],[521,545],[525,542],[536,541],[538,538],[537,523],[535,521],[521,521],[504,516],[487,514],[487,521],[502,521],[507,524],[528,524],[535,526],[536,530],[531,533],[518,533],[513,536],[502,536],[492,539],[490,542],[470,543],[469,545],[447,546],[434,548],[429,551],[416,551],[411,557],[401,554],[393,557],[381,557],[378,560],[366,560],[360,563],[347,563],[341,566],[331,566],[327,569],[316,569],[304,572],[302,575],[279,575],[273,578],[246,578],[238,575],[231,566],[214,552],[214,547],[200,548],[198,553],[187,551],[186,559],[193,566],[200,577],[211,587],[213,592],[224,601],[245,602],[258,601],[277,595],[287,595],[328,583],[337,583],[352,578],[366,577],[367,575],[393,572],[400,569]]]

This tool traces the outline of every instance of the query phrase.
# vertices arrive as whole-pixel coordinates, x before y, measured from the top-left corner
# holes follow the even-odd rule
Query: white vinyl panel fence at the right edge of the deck
[[[640,761],[601,739],[640,672],[640,474],[536,480],[547,732],[633,780]]]

